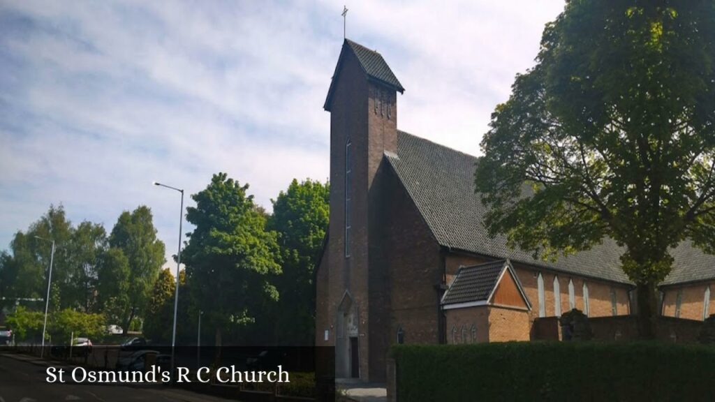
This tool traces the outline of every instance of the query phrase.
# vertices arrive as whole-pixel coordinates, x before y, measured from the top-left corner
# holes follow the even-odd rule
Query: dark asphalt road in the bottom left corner
[[[47,383],[47,364],[44,361],[26,358],[26,356],[0,354],[0,402],[228,401],[227,399],[205,396],[177,388],[154,385]],[[65,369],[69,371],[71,367],[69,370],[67,370],[67,367]]]

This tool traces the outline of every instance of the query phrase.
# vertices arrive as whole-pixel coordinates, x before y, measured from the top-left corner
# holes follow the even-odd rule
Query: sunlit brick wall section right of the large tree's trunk
[[[676,316],[676,302],[678,293],[681,293],[680,318],[689,320],[702,320],[705,300],[705,289],[710,287],[709,315],[715,314],[715,282],[699,283],[678,287],[667,287],[664,291],[662,314],[666,317]]]

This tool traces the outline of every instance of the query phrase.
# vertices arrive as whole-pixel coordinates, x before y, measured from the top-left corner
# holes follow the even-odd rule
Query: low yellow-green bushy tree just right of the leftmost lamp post
[[[74,338],[85,337],[95,340],[104,335],[107,328],[104,315],[82,313],[71,308],[57,311],[51,316],[49,333],[53,343],[69,343]]]

